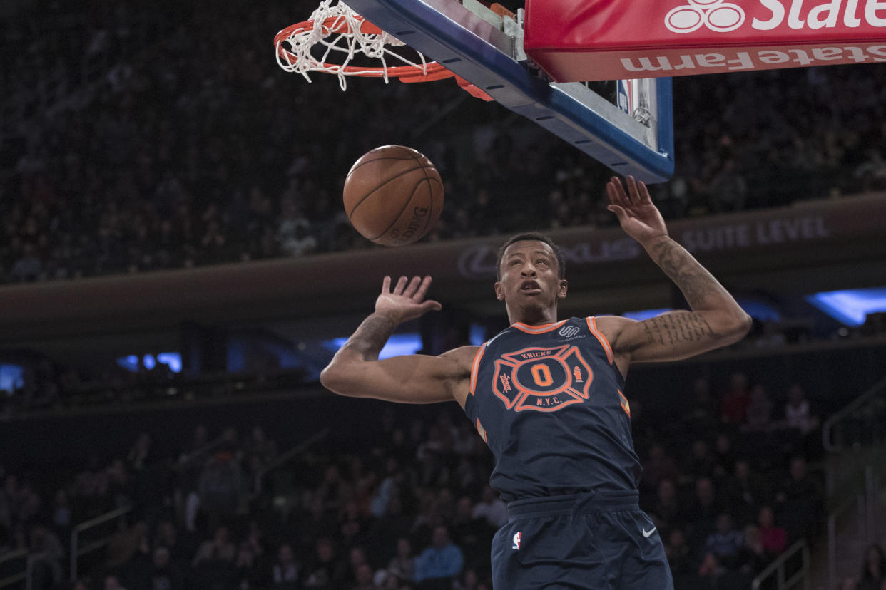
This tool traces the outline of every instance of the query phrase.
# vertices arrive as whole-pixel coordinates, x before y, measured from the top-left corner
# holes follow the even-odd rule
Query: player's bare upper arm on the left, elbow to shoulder
[[[323,369],[320,381],[338,395],[403,403],[455,400],[463,407],[470,386],[470,361],[476,350],[471,346],[440,356],[364,360],[343,349]]]

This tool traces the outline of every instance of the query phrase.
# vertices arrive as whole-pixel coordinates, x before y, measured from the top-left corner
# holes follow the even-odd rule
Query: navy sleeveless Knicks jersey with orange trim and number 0
[[[464,410],[493,452],[501,499],[636,489],[624,387],[595,318],[517,323],[481,346]]]

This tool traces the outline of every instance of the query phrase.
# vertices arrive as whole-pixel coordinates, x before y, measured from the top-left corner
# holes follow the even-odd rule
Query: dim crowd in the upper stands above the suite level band
[[[338,195],[383,142],[422,149],[446,181],[431,240],[614,224],[610,172],[454,83],[351,80],[342,94],[334,77],[281,71],[273,35],[313,8],[89,0],[5,17],[0,282],[367,247]],[[886,188],[884,78],[855,65],[675,79],[677,173],[657,202],[676,218]]]

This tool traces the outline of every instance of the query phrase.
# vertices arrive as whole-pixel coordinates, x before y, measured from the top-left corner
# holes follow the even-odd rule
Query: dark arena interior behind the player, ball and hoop
[[[555,136],[451,81],[282,72],[271,40],[313,9],[0,5],[0,588],[488,590],[507,510],[460,408],[319,383],[382,278],[443,303],[384,354],[506,327],[495,250],[525,230],[563,247],[562,318],[686,306]],[[653,199],[754,326],[633,367],[641,508],[678,590],[882,590],[886,65],[673,89]],[[383,144],[446,185],[401,249],[341,207]]]

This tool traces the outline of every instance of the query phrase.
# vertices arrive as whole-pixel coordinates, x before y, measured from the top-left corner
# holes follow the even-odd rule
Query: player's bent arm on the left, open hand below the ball
[[[463,405],[470,383],[471,349],[476,347],[463,347],[440,356],[406,355],[378,360],[379,351],[397,326],[426,311],[441,309],[436,301],[424,300],[428,287],[431,277],[400,277],[393,289],[391,278],[385,277],[375,313],[363,320],[320,373],[323,387],[338,395],[389,402],[456,400]]]

